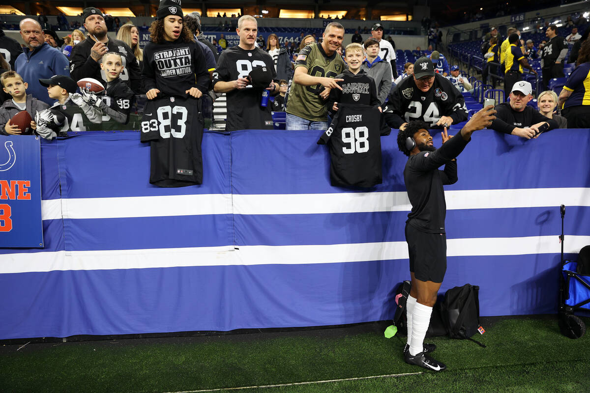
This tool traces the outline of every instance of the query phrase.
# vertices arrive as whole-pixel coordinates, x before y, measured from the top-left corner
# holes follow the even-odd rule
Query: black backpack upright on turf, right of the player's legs
[[[477,285],[466,284],[447,290],[443,310],[450,338],[468,339],[486,347],[471,338],[480,328],[479,287]]]

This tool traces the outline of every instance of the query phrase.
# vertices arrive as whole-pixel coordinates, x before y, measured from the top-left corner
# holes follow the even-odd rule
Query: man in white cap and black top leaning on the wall
[[[509,95],[510,101],[494,108],[497,111],[496,119],[491,122],[490,128],[526,139],[558,128],[555,120],[543,116],[535,108],[527,105],[533,99],[532,91],[533,87],[529,82],[516,82]]]

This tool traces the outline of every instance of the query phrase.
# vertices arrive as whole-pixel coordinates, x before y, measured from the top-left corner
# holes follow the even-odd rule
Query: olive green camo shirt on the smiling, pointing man
[[[295,68],[304,66],[307,68],[307,75],[312,77],[335,78],[345,70],[346,66],[342,57],[337,52],[332,56],[326,55],[321,44],[307,45],[295,62]],[[322,84],[304,86],[289,82],[287,97],[287,113],[299,116],[311,121],[326,121],[326,102],[320,97],[324,89]]]

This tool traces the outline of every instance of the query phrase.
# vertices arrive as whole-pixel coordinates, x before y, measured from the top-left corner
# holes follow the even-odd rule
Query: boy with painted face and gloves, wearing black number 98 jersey
[[[97,97],[87,88],[80,89],[84,102],[102,111],[103,130],[118,129],[120,128],[118,124],[129,122],[133,91],[120,78],[123,68],[123,59],[120,54],[106,52],[100,60],[100,69],[104,71],[107,81],[105,95]],[[114,120],[116,123],[111,123],[109,120]]]

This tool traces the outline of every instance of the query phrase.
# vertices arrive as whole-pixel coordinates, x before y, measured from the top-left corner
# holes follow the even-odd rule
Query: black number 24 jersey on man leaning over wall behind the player
[[[402,80],[389,93],[383,113],[392,128],[399,128],[412,120],[424,120],[431,127],[437,127],[442,116],[453,118],[453,124],[467,120],[463,94],[440,74],[434,75],[432,87],[426,93],[418,89],[414,78]]]

